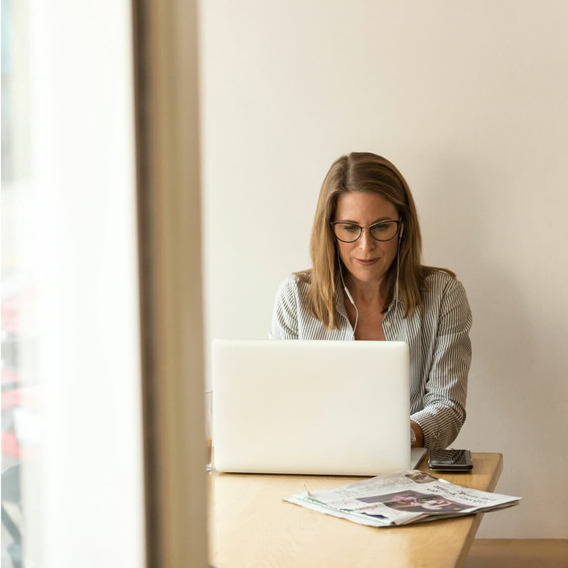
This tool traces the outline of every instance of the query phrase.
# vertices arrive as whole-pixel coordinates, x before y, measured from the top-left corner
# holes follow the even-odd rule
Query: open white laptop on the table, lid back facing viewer
[[[212,361],[219,471],[378,475],[424,454],[406,343],[215,340]]]

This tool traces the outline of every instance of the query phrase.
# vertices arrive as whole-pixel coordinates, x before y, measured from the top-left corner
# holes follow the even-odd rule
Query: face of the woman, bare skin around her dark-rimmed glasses
[[[332,221],[343,221],[369,227],[380,221],[396,221],[396,207],[376,193],[352,191],[337,200]],[[396,257],[399,233],[390,241],[377,241],[363,229],[354,243],[336,240],[345,268],[361,282],[381,282]]]

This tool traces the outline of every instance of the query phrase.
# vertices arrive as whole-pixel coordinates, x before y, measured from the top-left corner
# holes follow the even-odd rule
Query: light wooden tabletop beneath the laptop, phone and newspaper
[[[464,487],[493,491],[503,469],[502,454],[474,453],[473,460],[471,473],[433,474]],[[426,457],[419,469],[429,471]],[[282,501],[305,491],[304,483],[312,491],[361,478],[216,471],[207,476],[210,562],[215,568],[462,566],[483,516],[365,527]]]

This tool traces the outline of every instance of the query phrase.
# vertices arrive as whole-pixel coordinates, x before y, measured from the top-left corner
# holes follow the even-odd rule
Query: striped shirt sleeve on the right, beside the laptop
[[[423,408],[410,418],[424,433],[425,448],[447,448],[465,422],[467,374],[471,365],[471,310],[461,282],[441,300],[433,364]]]

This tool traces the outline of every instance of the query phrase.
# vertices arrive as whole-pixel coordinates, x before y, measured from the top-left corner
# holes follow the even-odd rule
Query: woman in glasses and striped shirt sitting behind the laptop
[[[325,176],[312,229],[312,269],[290,275],[273,339],[406,341],[411,444],[446,448],[465,421],[471,311],[450,270],[421,264],[416,207],[385,158],[353,152]]]

